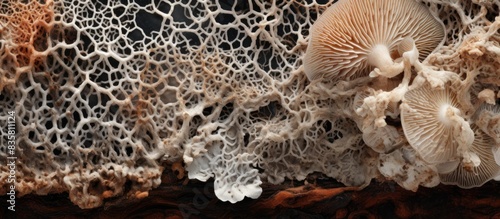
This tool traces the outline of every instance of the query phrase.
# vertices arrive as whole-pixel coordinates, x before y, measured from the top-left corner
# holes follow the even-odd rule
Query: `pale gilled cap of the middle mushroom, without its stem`
[[[456,124],[443,118],[443,114],[447,115],[443,109],[460,108],[456,93],[449,86],[433,89],[429,83],[425,83],[409,90],[400,107],[401,125],[406,139],[422,159],[438,164],[459,158],[459,143],[454,134]]]

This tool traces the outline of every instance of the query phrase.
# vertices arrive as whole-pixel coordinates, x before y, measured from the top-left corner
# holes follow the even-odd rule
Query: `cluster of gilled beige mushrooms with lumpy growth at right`
[[[490,28],[498,30],[497,25]],[[437,177],[463,188],[500,177],[497,97],[489,83],[478,83],[481,77],[500,78],[500,73],[493,68],[488,73],[435,70],[430,65],[434,57],[427,56],[446,46],[445,32],[439,18],[413,0],[341,0],[311,28],[304,58],[311,86],[373,78],[356,94],[355,121],[365,144],[380,153],[381,174],[411,190],[419,184],[434,186],[431,179]],[[488,37],[498,48],[498,33]],[[492,53],[497,64],[499,53]],[[394,77],[397,86],[387,83]],[[484,90],[471,92],[474,87]],[[387,124],[387,118],[400,125]],[[411,159],[409,146],[416,152]]]

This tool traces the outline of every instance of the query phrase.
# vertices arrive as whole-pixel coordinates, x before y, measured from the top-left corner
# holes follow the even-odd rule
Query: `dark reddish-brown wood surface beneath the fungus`
[[[263,185],[257,200],[219,201],[213,183],[178,180],[164,174],[160,187],[141,200],[107,199],[82,210],[68,194],[27,195],[16,200],[16,214],[0,197],[0,218],[499,218],[500,183],[460,189],[440,185],[407,191],[390,182],[372,182],[363,190],[341,187],[331,179],[303,185],[288,181]],[[187,184],[184,184],[187,183]]]

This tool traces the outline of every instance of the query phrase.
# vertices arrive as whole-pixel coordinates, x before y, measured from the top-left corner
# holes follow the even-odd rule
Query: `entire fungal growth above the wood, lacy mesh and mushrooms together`
[[[233,203],[308,177],[411,190],[499,179],[499,6],[2,1],[17,195],[140,199],[174,164]]]

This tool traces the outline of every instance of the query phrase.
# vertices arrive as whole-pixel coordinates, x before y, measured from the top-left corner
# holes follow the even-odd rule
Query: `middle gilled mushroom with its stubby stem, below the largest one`
[[[422,159],[439,164],[463,157],[478,166],[478,156],[469,150],[474,132],[462,117],[456,93],[449,86],[432,88],[430,83],[409,90],[401,103],[401,125],[410,145]]]

